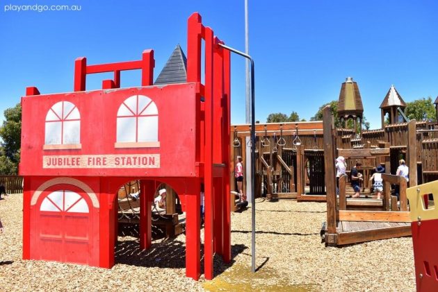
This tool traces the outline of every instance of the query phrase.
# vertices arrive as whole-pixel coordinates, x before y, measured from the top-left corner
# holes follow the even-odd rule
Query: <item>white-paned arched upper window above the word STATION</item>
[[[151,98],[134,95],[117,111],[115,147],[159,147],[158,109]]]

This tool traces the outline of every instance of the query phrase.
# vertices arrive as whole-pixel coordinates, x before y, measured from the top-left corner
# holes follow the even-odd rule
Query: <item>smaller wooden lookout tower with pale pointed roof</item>
[[[391,85],[391,88],[389,88],[380,108],[382,109],[382,128],[384,128],[385,114],[389,114],[389,124],[402,122],[400,119],[403,119],[406,103],[394,85]]]

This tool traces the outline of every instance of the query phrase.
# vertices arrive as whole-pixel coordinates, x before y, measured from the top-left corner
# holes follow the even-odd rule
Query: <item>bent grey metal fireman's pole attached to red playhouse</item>
[[[238,55],[241,55],[251,62],[251,270],[252,273],[255,273],[255,95],[254,95],[254,60],[245,53],[241,51],[237,51],[229,46],[225,46],[225,44],[220,44],[224,49],[232,51]]]

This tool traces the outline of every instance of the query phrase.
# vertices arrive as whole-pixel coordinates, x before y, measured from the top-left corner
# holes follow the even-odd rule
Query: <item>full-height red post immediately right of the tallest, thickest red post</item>
[[[213,31],[205,28],[204,274],[213,279]]]

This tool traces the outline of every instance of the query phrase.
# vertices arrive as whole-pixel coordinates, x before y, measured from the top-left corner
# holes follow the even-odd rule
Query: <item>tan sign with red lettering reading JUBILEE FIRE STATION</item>
[[[159,154],[43,155],[43,169],[158,169]]]

